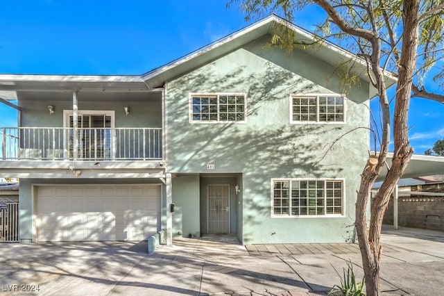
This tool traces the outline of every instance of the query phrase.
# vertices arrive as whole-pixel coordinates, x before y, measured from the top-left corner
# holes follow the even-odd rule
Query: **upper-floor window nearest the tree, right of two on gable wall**
[[[344,98],[333,94],[291,97],[291,122],[344,122]]]

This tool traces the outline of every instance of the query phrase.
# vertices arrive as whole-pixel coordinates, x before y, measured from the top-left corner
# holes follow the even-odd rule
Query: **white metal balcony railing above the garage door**
[[[0,128],[0,143],[3,161],[148,161],[163,158],[160,128],[3,127]]]

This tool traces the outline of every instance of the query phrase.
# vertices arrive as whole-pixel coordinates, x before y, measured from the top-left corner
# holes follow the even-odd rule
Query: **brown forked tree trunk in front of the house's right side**
[[[402,31],[402,54],[399,65],[399,79],[396,90],[395,118],[393,121],[393,140],[395,152],[391,168],[388,170],[386,178],[381,188],[377,192],[373,205],[371,207],[370,227],[367,232],[366,226],[366,207],[370,190],[385,163],[386,151],[388,147],[387,137],[384,138],[378,163],[375,166],[367,165],[361,175],[361,186],[359,188],[356,204],[356,229],[359,240],[359,249],[361,250],[362,263],[364,268],[364,277],[366,280],[367,295],[380,295],[379,291],[379,263],[382,254],[380,242],[382,219],[386,211],[388,201],[404,173],[407,164],[410,161],[413,149],[409,145],[407,137],[407,113],[409,110],[409,101],[411,96],[411,83],[416,63],[416,51],[418,49],[418,24],[419,24],[419,6],[420,0],[406,0],[403,7],[403,31]],[[375,49],[375,48],[374,48]],[[372,60],[374,63],[375,60]],[[379,63],[377,64],[379,65]],[[388,104],[382,76],[377,74],[373,65],[373,72],[377,77],[379,90],[381,90],[380,101],[384,117],[383,132],[388,136],[390,120],[386,120],[388,113]],[[388,126],[388,129],[386,129]],[[370,161],[369,161],[370,163]]]

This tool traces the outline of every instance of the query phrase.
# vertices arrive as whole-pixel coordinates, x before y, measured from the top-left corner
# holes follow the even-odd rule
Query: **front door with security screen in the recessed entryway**
[[[208,233],[230,233],[230,184],[207,186]]]

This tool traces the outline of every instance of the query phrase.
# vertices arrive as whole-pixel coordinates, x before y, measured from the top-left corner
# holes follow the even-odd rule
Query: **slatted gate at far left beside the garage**
[[[19,241],[19,203],[0,199],[0,242]]]

